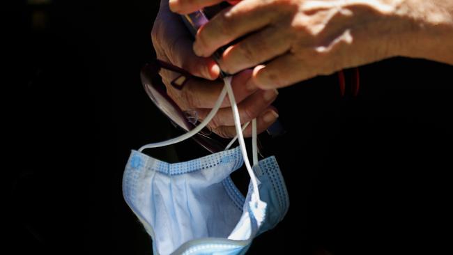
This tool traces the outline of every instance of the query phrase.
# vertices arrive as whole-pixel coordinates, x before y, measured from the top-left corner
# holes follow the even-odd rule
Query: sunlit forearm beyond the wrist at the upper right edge
[[[406,0],[397,14],[411,23],[399,54],[453,65],[453,0]]]

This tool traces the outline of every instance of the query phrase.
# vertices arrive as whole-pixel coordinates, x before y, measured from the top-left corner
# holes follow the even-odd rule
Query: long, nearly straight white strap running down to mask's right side
[[[244,135],[240,128],[239,110],[238,105],[236,104],[236,99],[234,98],[233,88],[231,88],[231,76],[225,77],[224,83],[225,86],[227,87],[231,109],[233,109],[234,126],[236,127],[236,134],[238,135],[240,152],[243,154],[245,167],[247,168],[250,180],[252,181],[252,186],[254,190],[253,194],[256,196],[255,199],[257,199],[256,201],[260,201],[261,199],[259,199],[258,183],[256,182],[256,176],[252,170],[252,166],[250,166],[249,157],[247,155],[247,150],[245,148]]]

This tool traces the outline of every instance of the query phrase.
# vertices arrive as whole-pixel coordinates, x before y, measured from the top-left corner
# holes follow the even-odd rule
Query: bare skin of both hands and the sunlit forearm
[[[263,132],[278,117],[270,105],[277,98],[275,88],[392,56],[453,64],[452,0],[243,0],[203,26],[194,43],[169,9],[191,13],[220,1],[161,0],[153,26],[158,58],[200,77],[178,91],[169,86],[176,74],[161,72],[169,96],[181,109],[197,110],[201,119],[222,89],[215,81],[220,67],[236,74],[233,91],[241,122],[258,118]],[[209,58],[242,36],[224,52],[220,67]],[[234,137],[228,100],[222,107],[208,126],[222,137]],[[247,127],[245,136],[250,134]]]

